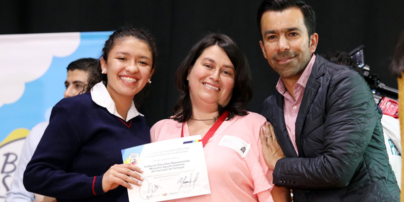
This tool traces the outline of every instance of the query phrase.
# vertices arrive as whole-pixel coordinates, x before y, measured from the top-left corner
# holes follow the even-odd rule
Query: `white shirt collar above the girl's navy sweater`
[[[102,81],[95,84],[94,87],[91,88],[91,99],[95,104],[107,108],[109,113],[123,119],[122,116],[118,114],[115,102],[111,98],[110,93],[108,92],[107,88],[105,87]],[[137,117],[138,115],[143,116],[136,110],[135,104],[133,103],[132,100],[132,104],[129,107],[128,115],[126,116],[125,121],[127,122],[132,118]]]

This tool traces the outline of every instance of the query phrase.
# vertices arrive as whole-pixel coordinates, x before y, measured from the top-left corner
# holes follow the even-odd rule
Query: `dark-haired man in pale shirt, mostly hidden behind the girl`
[[[94,74],[98,66],[99,60],[93,58],[82,58],[71,62],[67,66],[64,97],[72,97],[79,94],[79,92],[84,89],[85,85],[87,85],[88,76]],[[34,193],[27,191],[23,185],[22,179],[25,168],[29,160],[31,160],[32,155],[34,155],[36,146],[48,124],[49,121],[37,124],[25,138],[11,188],[6,193],[6,202],[40,202],[43,200],[43,196],[38,194],[34,195]]]

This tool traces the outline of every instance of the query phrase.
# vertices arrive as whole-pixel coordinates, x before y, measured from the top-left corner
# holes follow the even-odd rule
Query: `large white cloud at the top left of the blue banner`
[[[0,35],[0,107],[16,102],[25,83],[41,77],[53,57],[66,57],[80,44],[80,32]]]

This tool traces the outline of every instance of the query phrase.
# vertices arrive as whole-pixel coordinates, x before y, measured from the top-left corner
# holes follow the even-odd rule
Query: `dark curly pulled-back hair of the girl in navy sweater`
[[[108,61],[108,55],[112,48],[114,46],[121,42],[126,37],[134,37],[136,39],[139,39],[143,42],[145,42],[151,51],[151,55],[153,55],[153,64],[151,65],[151,69],[155,68],[155,61],[157,58],[157,46],[156,46],[156,39],[151,36],[151,34],[145,30],[145,29],[138,29],[138,28],[132,28],[132,27],[124,27],[119,30],[116,30],[114,33],[110,35],[107,41],[105,41],[105,45],[103,48],[103,53],[102,53],[102,58],[107,62]],[[88,85],[85,88],[86,92],[89,92],[92,87],[94,87],[95,84],[103,81],[105,85],[108,83],[107,79],[107,74],[102,74],[101,73],[101,65],[98,66],[98,71],[96,73],[92,74],[88,78]],[[144,103],[144,100],[148,96],[148,91],[149,91],[150,85],[146,84],[144,88],[138,92],[135,97],[133,98],[133,101],[135,103],[136,108],[140,108],[141,105]]]

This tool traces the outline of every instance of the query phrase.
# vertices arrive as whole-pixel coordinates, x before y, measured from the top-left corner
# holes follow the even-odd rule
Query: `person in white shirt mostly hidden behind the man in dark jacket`
[[[337,65],[344,65],[354,68],[362,75],[362,69],[346,52],[334,51],[330,52],[323,57]],[[382,114],[382,110],[379,108]],[[398,187],[401,189],[401,136],[400,136],[400,122],[388,115],[383,115],[381,118],[383,127],[384,144],[386,145],[388,160],[391,169],[394,171],[395,178],[397,179]]]

